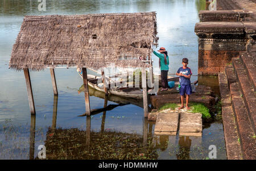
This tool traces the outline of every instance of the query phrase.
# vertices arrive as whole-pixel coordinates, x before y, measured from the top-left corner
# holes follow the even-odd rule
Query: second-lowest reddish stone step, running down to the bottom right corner
[[[232,109],[236,118],[236,124],[238,128],[238,135],[241,143],[241,150],[243,159],[256,159],[256,143],[255,134],[250,124],[250,119],[247,115],[247,110],[243,99],[241,97],[241,91],[237,82],[230,84],[230,96],[232,97]]]

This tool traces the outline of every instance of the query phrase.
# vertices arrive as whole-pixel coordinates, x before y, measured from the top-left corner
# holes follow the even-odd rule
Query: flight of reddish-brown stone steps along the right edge
[[[230,90],[230,100],[232,103],[232,109],[234,118],[236,120],[237,128],[233,130],[238,132],[239,139],[237,140],[241,143],[241,151],[243,154],[243,159],[256,159],[256,143],[255,143],[255,66],[254,61],[249,58],[248,53],[241,53],[240,57],[232,59],[232,65],[227,64],[225,66],[225,75],[226,82]],[[219,74],[219,79],[221,80],[223,73]],[[225,76],[224,76],[225,77]],[[220,81],[221,84],[221,81]],[[220,85],[220,89],[222,89]],[[223,91],[223,90],[222,90]],[[225,93],[222,92],[222,99],[225,99]],[[223,104],[222,104],[223,105]],[[232,129],[226,128],[232,123],[231,120],[225,118],[225,107],[222,107],[222,117],[224,122],[224,134],[225,136],[228,132],[231,132]],[[232,116],[232,114],[230,114]],[[232,118],[231,118],[232,119]],[[235,136],[234,136],[235,137]],[[230,141],[235,141],[230,139],[230,141],[225,137],[227,144],[227,153],[228,145]],[[238,149],[239,153],[239,149]]]

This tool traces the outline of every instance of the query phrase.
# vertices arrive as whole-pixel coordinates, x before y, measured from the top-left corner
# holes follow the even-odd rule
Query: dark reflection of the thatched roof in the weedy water
[[[148,144],[144,147],[143,137],[134,134],[90,131],[88,136],[77,128],[49,128],[45,141],[47,159],[157,159]]]

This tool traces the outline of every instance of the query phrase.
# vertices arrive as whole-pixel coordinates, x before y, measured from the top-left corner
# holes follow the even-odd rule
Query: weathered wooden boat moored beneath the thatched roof
[[[82,74],[78,72],[79,75],[82,78]],[[94,76],[92,74],[87,74],[88,78],[88,85],[92,87],[93,89],[96,89],[98,91],[105,92],[103,84],[97,84],[98,82],[102,82],[101,77]],[[179,81],[179,77],[174,78],[168,78],[168,81]],[[110,84],[109,84],[110,85]],[[161,84],[159,84],[161,85]],[[109,86],[110,87],[110,86]],[[141,87],[141,85],[139,85]],[[127,98],[135,98],[135,99],[142,99],[143,98],[143,92],[142,89],[139,87],[113,87],[108,89],[109,94],[118,95],[121,97],[127,97]]]

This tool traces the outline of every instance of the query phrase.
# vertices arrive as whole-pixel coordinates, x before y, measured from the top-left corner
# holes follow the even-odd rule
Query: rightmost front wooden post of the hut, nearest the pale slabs
[[[144,118],[148,117],[148,103],[147,103],[147,78],[146,68],[142,68],[142,89],[143,89],[143,107]]]

